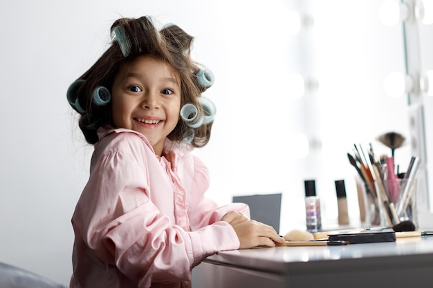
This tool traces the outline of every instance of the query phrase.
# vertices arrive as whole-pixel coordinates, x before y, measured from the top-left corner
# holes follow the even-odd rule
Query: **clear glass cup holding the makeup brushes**
[[[392,227],[412,221],[418,227],[416,179],[385,179],[362,186],[365,227]]]

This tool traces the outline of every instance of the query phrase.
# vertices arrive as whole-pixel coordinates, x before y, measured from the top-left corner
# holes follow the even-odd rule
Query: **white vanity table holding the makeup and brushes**
[[[431,288],[433,237],[221,251],[206,258],[192,274],[193,288]]]

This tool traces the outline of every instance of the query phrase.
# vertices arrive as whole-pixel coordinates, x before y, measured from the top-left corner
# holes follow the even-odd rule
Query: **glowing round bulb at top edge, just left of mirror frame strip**
[[[398,0],[386,0],[380,4],[378,16],[386,26],[396,26],[400,21],[409,21],[410,6]]]

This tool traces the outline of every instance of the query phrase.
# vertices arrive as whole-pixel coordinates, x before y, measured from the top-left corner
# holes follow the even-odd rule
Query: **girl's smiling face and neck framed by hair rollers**
[[[137,57],[120,66],[111,98],[115,126],[145,135],[161,155],[181,110],[181,83],[174,69],[154,57]]]

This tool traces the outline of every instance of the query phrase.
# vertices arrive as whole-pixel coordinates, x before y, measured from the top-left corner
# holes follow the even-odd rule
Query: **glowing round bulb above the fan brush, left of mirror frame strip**
[[[414,80],[411,76],[394,71],[389,73],[383,81],[383,89],[389,97],[399,98],[412,92]]]

